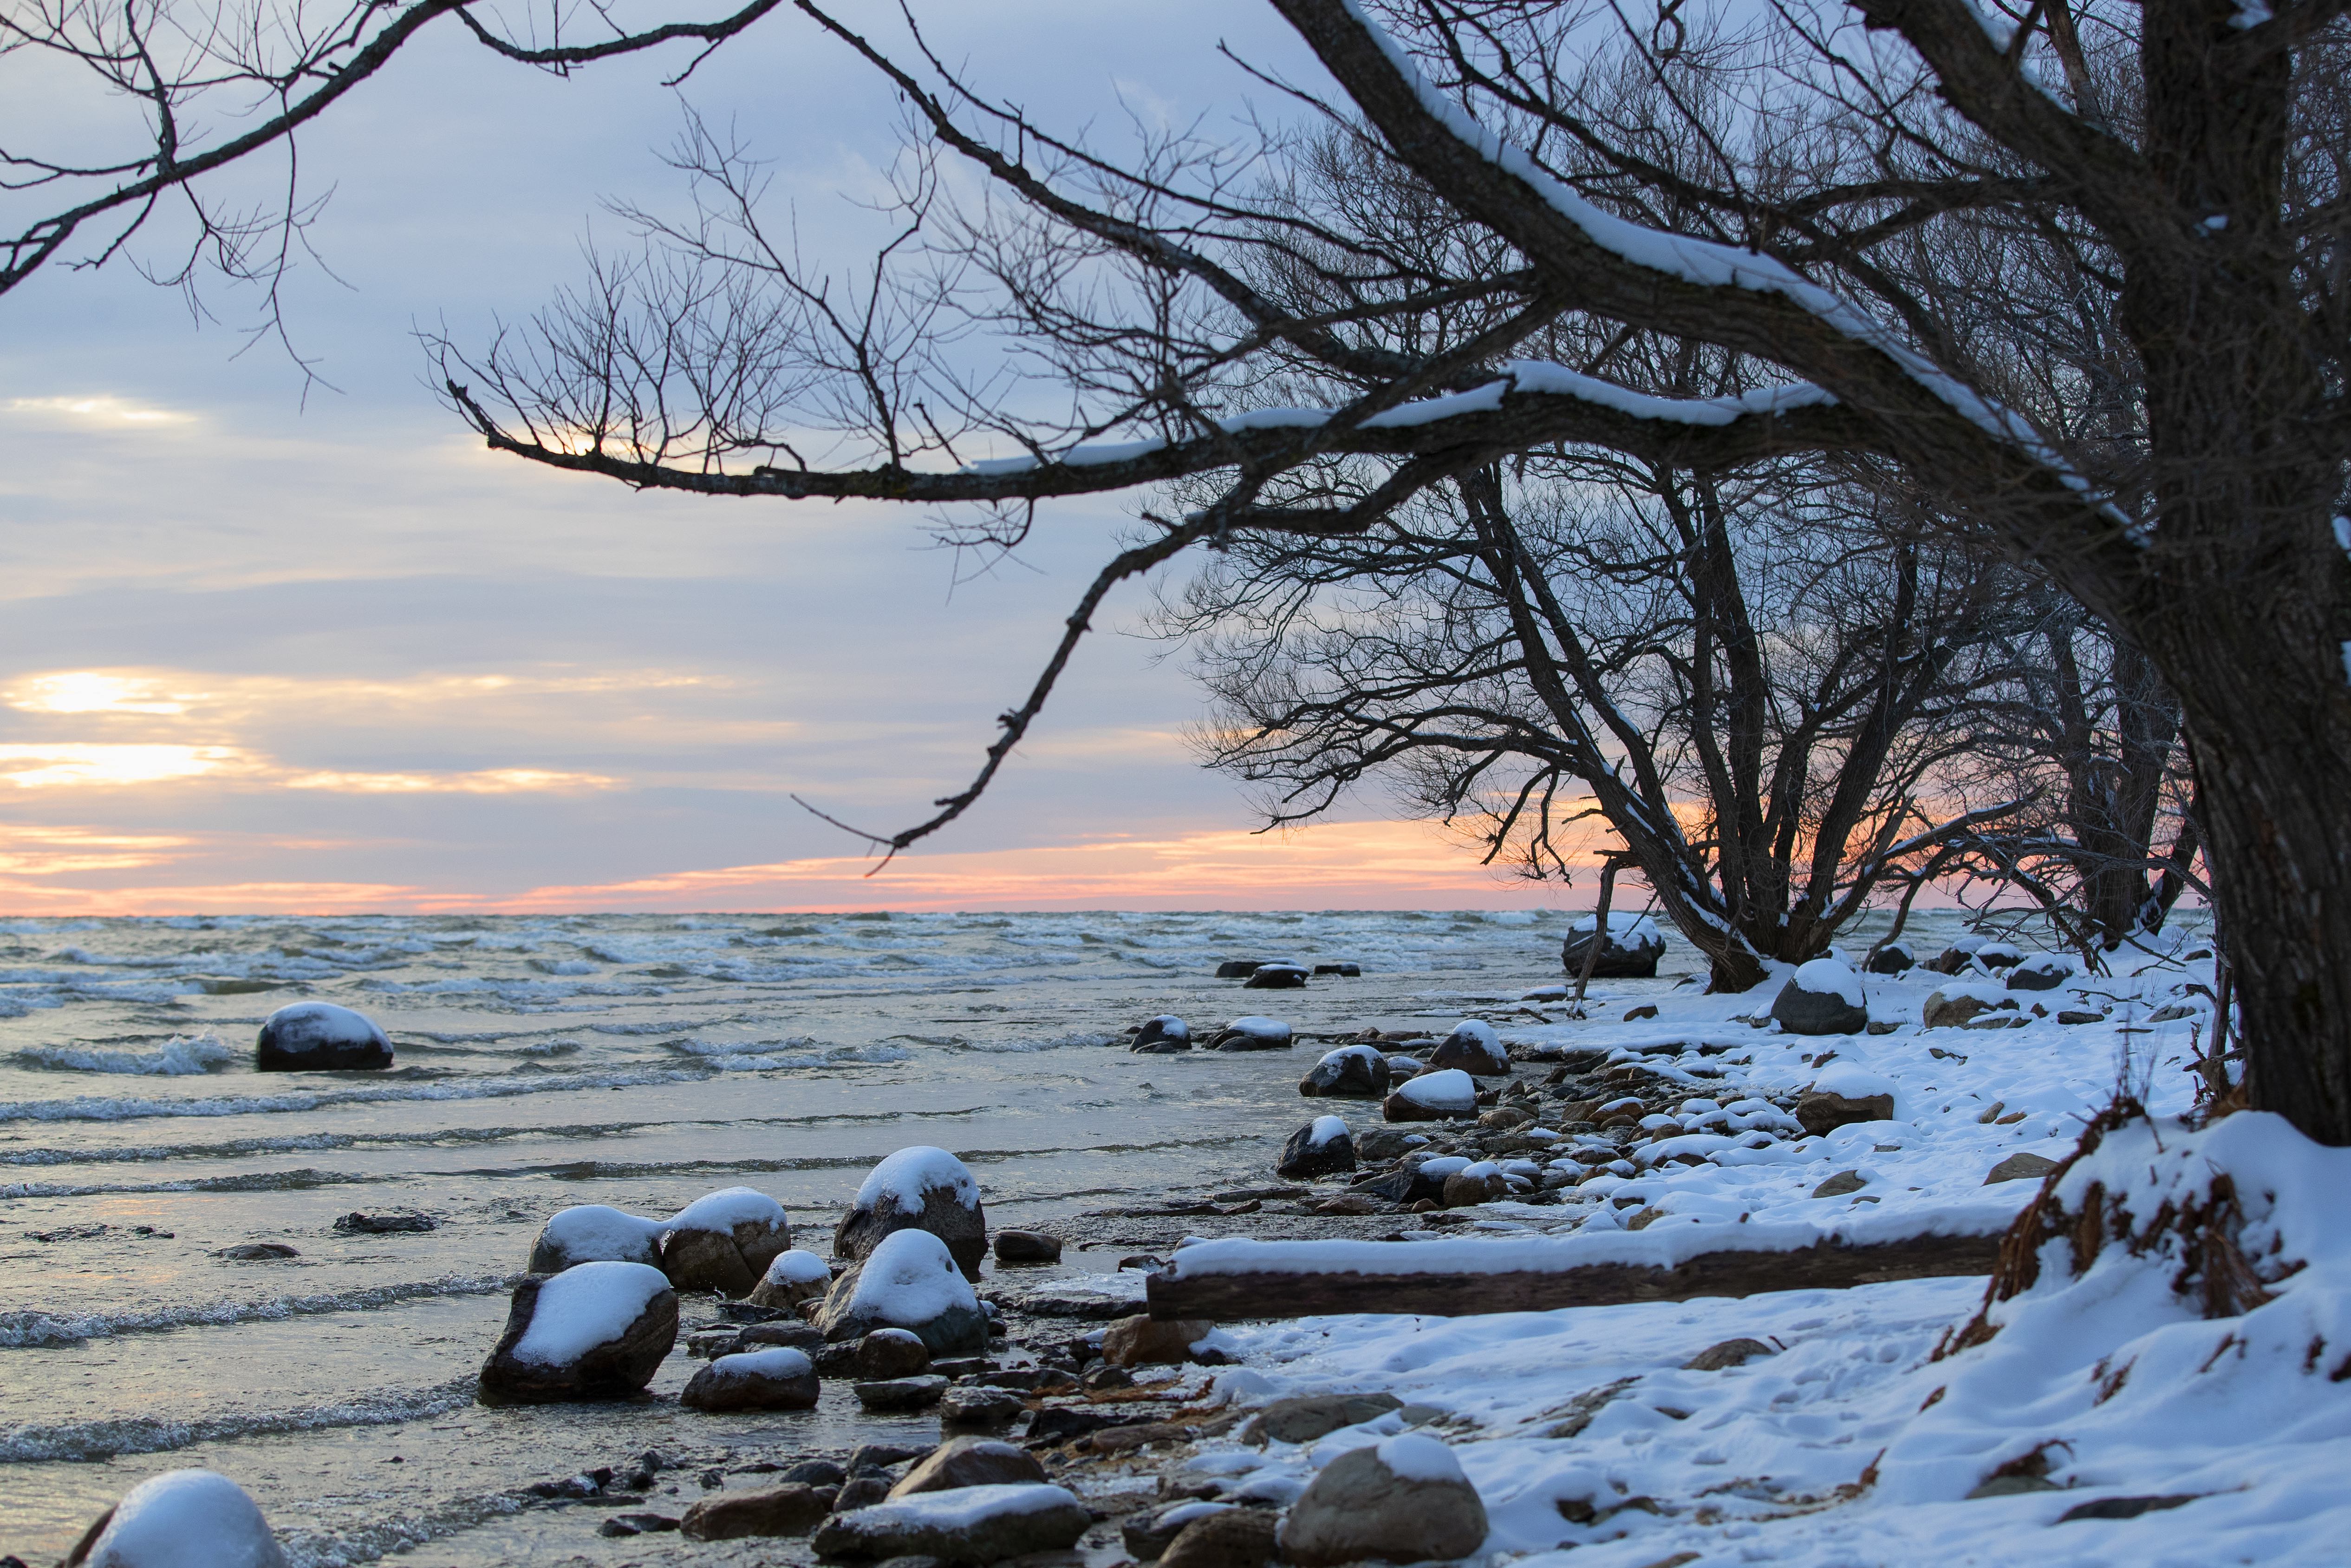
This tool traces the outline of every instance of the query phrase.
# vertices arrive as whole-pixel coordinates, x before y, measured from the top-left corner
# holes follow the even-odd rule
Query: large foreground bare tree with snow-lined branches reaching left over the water
[[[2344,7],[2057,0],[1987,19],[1968,0],[1782,0],[1749,38],[1650,49],[1648,19],[1606,5],[1399,0],[1380,21],[1349,0],[1274,5],[1342,94],[1331,120],[1411,172],[1493,266],[1399,270],[1300,214],[1279,141],[1166,141],[1114,165],[802,2],[990,183],[987,207],[922,219],[929,273],[900,299],[1004,334],[1009,381],[938,348],[900,357],[896,378],[865,374],[877,339],[809,313],[773,364],[828,383],[832,402],[790,407],[842,447],[802,461],[783,421],[731,418],[759,374],[672,341],[677,317],[651,299],[630,303],[632,339],[571,317],[473,369],[451,360],[451,400],[531,461],[708,494],[994,503],[1011,508],[1002,538],[1037,501],[1215,475],[1192,510],[1145,512],[987,771],[893,846],[985,785],[1103,592],[1194,543],[1368,534],[1432,487],[1552,444],[1679,473],[1794,454],[1871,465],[1949,536],[2062,585],[2177,693],[2245,978],[2250,1098],[2351,1143]],[[2128,59],[2123,101],[2092,59]],[[2003,317],[1947,308],[1965,280],[1937,268],[2001,230],[2045,235],[2114,301],[2130,362],[2114,381],[2139,395],[2109,400],[2095,440],[2012,393],[2067,367]],[[759,299],[835,299],[778,254],[748,256]],[[1272,263],[1328,275],[1347,303],[1284,310],[1248,282]],[[1434,350],[1366,331],[1448,303],[1488,324]],[[1512,357],[1559,322],[1599,348]],[[1613,378],[1617,331],[1784,381],[1646,402]],[[863,378],[844,393],[828,362]],[[1253,383],[1300,367],[1364,390],[1248,407]],[[987,440],[1025,456],[969,461]],[[1349,463],[1371,477],[1331,484]]]

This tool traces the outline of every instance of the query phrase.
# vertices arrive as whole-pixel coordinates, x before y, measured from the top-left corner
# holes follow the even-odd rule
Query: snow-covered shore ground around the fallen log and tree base
[[[2238,1114],[2189,1133],[2191,1027],[2210,1011],[2205,961],[2078,978],[2017,992],[2050,1013],[2024,1027],[1921,1030],[1940,976],[1867,980],[1893,1034],[1801,1039],[1733,1023],[1768,1009],[1688,997],[1636,1025],[1505,1027],[1519,1044],[1606,1044],[1723,1077],[1690,1079],[1681,1135],[1650,1150],[1702,1164],[1634,1166],[1578,1187],[1566,1208],[1495,1206],[1495,1232],[1822,1222],[2027,1206],[2041,1182],[1984,1187],[2015,1152],[2069,1154],[2116,1088],[2156,1121],[2109,1133],[2067,1173],[2067,1213],[2102,1204],[2109,1244],[2076,1276],[2050,1241],[2038,1281],[1991,1307],[1989,1342],[1937,1359],[1982,1305],[1980,1279],[1928,1279],[1744,1300],[1498,1316],[1338,1316],[1227,1328],[1246,1366],[1227,1396],[1387,1389],[1441,1418],[1493,1519],[1488,1556],[1575,1568],[1801,1563],[2351,1563],[2351,1152],[2318,1150],[2276,1117]],[[1994,983],[1996,985],[1996,983]],[[1683,992],[1688,994],[1688,992]],[[2158,1009],[2189,1018],[2146,1023]],[[2057,1025],[2059,1009],[2102,1011]],[[1594,1009],[1594,1018],[1613,1009]],[[2029,1013],[2024,1013],[2031,1018]],[[1697,1044],[1728,1046],[1700,1056]],[[1895,1086],[1888,1121],[1827,1138],[1740,1133],[1714,1107],[1780,1098],[1834,1067]],[[1831,1070],[1834,1070],[1831,1067]],[[1700,1126],[1700,1124],[1707,1126]],[[1810,1197],[1855,1171],[1862,1187]],[[2241,1222],[2168,1229],[2233,1180]],[[2092,1192],[2092,1182],[2097,1192]],[[2219,1194],[2224,1197],[2224,1187]],[[2104,1199],[2099,1199],[2104,1194]],[[2116,1199],[2121,1194],[2121,1199]],[[2116,1206],[2118,1204],[2118,1206]],[[1876,1215],[1871,1215],[1876,1220]],[[2128,1232],[2128,1241],[2116,1241]],[[2222,1265],[2201,1241],[2241,1248],[2241,1307],[2208,1319]],[[1509,1246],[1507,1234],[1495,1244]],[[1455,1241],[1432,1244],[1455,1248]],[[1679,1251],[1679,1248],[1676,1248]],[[2226,1251],[2226,1246],[2224,1246]],[[2229,1253],[2236,1258],[2236,1253]],[[2250,1309],[2243,1309],[2248,1307]],[[1754,1338],[1773,1354],[1683,1371],[1709,1345]],[[1396,1432],[1392,1413],[1293,1448],[1204,1443],[1185,1467],[1225,1495],[1286,1500],[1347,1448]]]

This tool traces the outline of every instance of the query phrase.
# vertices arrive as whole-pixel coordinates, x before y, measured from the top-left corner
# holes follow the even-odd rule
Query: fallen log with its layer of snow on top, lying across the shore
[[[1843,1291],[1893,1279],[1991,1274],[2003,1227],[1853,1237],[1813,1227],[1679,1227],[1542,1241],[1208,1241],[1145,1279],[1154,1319],[1338,1312],[1554,1312],[1766,1291]],[[1791,1234],[1794,1232],[1794,1234]],[[1693,1246],[1695,1241],[1695,1246]]]

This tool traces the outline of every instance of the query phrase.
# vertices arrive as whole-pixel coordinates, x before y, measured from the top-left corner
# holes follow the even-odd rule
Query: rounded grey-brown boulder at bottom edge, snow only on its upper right
[[[1476,1488],[1451,1448],[1418,1432],[1338,1455],[1281,1521],[1281,1556],[1302,1568],[1458,1559],[1483,1542]]]

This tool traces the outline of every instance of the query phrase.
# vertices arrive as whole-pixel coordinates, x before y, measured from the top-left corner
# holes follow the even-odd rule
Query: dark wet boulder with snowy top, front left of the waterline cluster
[[[487,1406],[632,1399],[677,1345],[677,1291],[642,1262],[583,1262],[515,1286],[480,1375]]]

